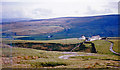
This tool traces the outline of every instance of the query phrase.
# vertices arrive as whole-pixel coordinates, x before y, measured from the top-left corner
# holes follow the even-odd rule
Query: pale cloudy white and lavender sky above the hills
[[[2,18],[49,19],[118,14],[119,0],[1,0]]]

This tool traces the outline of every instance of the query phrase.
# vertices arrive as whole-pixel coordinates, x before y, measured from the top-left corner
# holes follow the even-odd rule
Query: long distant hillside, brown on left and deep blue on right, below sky
[[[118,37],[118,17],[120,15],[102,15],[92,17],[61,17],[53,19],[29,20],[3,24],[3,35],[27,35],[19,39],[75,38],[81,35]]]

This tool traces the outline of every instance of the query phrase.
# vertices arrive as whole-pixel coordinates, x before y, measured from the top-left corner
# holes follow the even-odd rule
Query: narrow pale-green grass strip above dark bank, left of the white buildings
[[[70,38],[70,39],[58,39],[58,40],[4,40],[4,43],[26,43],[26,42],[33,42],[33,43],[61,43],[61,44],[76,44],[80,43],[83,40],[78,40],[77,38]]]

